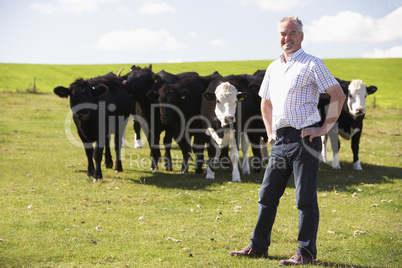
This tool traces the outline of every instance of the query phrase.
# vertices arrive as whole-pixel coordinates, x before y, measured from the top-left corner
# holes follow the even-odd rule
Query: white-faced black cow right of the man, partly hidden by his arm
[[[341,169],[339,163],[340,142],[338,139],[338,135],[340,135],[346,140],[352,140],[353,168],[356,171],[362,171],[363,168],[359,161],[359,144],[363,130],[363,119],[366,114],[366,97],[367,95],[374,94],[377,91],[377,87],[373,85],[366,87],[362,80],[344,81],[338,78],[336,78],[336,80],[341,85],[343,92],[346,95],[346,100],[343,104],[337,123],[327,135],[322,137],[322,161],[327,162],[326,144],[329,136],[333,151],[332,168],[337,170]],[[328,94],[320,94],[318,103],[318,109],[321,114],[320,125],[322,125],[325,120],[326,109],[329,105],[329,101],[330,97]]]

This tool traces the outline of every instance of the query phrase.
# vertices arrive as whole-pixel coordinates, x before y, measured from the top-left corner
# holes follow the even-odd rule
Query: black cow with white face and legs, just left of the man
[[[228,76],[212,81],[203,94],[201,115],[204,116],[206,133],[211,136],[220,149],[231,144],[230,159],[232,161],[232,181],[241,181],[238,168],[238,141],[241,136],[241,148],[243,151],[243,174],[250,174],[247,159],[249,141],[253,144],[254,171],[261,170],[261,153],[259,149],[260,136],[264,135],[260,102],[257,92],[250,87],[254,77],[247,75]],[[262,81],[262,80],[260,80]],[[241,104],[240,104],[241,103]],[[239,105],[238,105],[239,104]],[[257,135],[255,135],[258,133]],[[265,134],[266,136],[266,134]],[[252,140],[249,140],[249,139]],[[207,179],[214,179],[214,164],[216,160],[210,160],[207,166]]]

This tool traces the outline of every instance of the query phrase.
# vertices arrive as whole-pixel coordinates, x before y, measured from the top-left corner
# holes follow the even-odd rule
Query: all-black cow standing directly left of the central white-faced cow
[[[174,138],[183,154],[181,173],[188,171],[191,151],[195,155],[195,172],[201,173],[207,139],[205,132],[202,131],[199,114],[202,94],[210,79],[200,77],[194,72],[177,76],[180,78],[179,82],[165,84],[158,91],[161,121],[164,124],[174,125]],[[194,138],[193,146],[191,146],[192,137]]]

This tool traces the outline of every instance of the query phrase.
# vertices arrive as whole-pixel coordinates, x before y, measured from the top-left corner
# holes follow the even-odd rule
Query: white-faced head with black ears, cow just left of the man
[[[238,92],[237,89],[229,82],[219,84],[215,92],[205,92],[203,97],[206,100],[215,100],[215,115],[221,123],[221,127],[225,127],[236,121],[235,114],[237,102],[243,101],[248,97],[247,92]]]

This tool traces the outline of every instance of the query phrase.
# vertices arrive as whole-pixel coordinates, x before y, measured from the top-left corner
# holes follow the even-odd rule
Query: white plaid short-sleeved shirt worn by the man
[[[320,93],[338,84],[324,62],[301,48],[271,63],[259,95],[271,100],[272,131],[283,127],[302,129],[320,121],[317,104]]]

